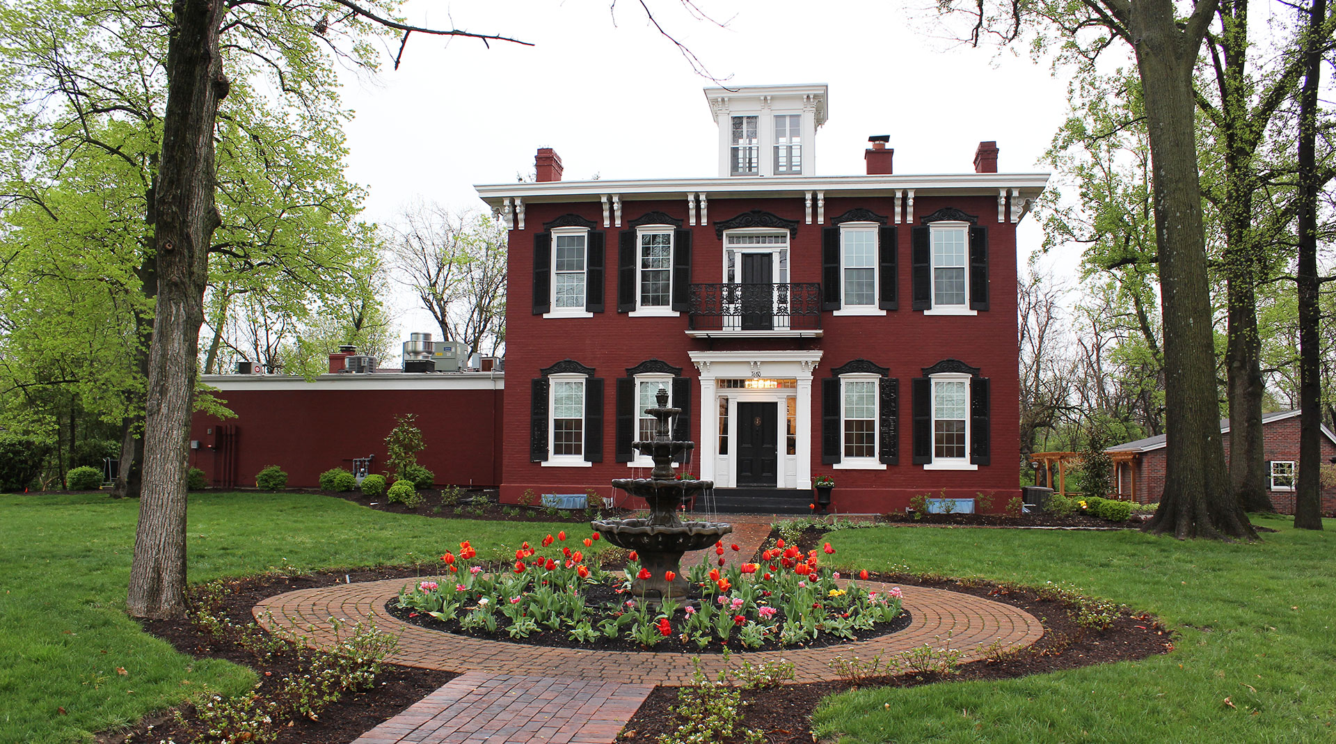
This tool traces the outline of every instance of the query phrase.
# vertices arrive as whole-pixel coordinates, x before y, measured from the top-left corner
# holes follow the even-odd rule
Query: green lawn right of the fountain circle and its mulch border
[[[860,529],[831,533],[847,568],[1043,584],[1150,610],[1176,650],[1019,680],[860,689],[827,699],[823,740],[1332,741],[1336,521],[1253,545],[1137,532]]]

